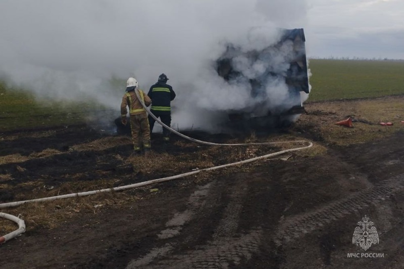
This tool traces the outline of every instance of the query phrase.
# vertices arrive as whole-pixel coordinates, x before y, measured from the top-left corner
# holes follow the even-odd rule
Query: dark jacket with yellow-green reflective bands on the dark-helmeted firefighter
[[[152,101],[151,110],[161,113],[171,113],[170,102],[175,98],[173,88],[165,82],[159,81],[150,87],[147,95]]]

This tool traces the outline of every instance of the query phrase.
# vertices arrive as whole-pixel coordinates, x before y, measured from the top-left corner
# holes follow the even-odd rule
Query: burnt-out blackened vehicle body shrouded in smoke
[[[219,76],[228,83],[247,81],[250,95],[256,100],[250,106],[226,112],[231,127],[244,130],[288,127],[296,115],[305,112],[301,93],[307,97],[310,88],[304,30],[279,31],[279,41],[260,50],[243,51],[228,44],[217,60]],[[240,69],[237,59],[250,68]]]

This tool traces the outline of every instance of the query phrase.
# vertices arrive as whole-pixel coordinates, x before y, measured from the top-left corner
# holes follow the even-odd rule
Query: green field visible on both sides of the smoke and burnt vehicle
[[[312,91],[308,102],[404,94],[404,61],[310,60],[309,68]],[[104,108],[88,100],[63,105],[48,100],[39,105],[32,93],[0,82],[0,133],[79,124],[97,109]]]

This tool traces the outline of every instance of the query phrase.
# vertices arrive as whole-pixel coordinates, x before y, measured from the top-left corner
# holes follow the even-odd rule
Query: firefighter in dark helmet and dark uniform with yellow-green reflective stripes
[[[147,95],[151,99],[151,109],[150,112],[160,118],[160,120],[167,126],[171,125],[171,101],[175,98],[175,92],[173,87],[167,84],[167,76],[161,74],[159,76],[159,81],[150,87]],[[148,116],[148,121],[150,124],[150,133],[153,132],[153,127],[156,120],[150,115]],[[165,142],[170,141],[170,130],[163,127],[163,140]]]

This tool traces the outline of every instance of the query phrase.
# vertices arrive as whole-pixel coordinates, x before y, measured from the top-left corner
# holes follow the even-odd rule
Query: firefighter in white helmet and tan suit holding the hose
[[[121,120],[126,125],[126,114],[129,107],[130,128],[132,131],[133,149],[136,155],[143,152],[145,155],[150,151],[150,127],[147,119],[147,113],[137,99],[135,91],[138,91],[140,98],[146,106],[149,106],[151,99],[141,89],[138,89],[136,79],[129,78],[126,82],[126,92],[122,97],[121,103]]]

